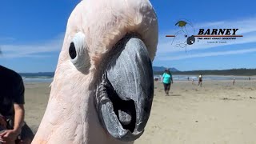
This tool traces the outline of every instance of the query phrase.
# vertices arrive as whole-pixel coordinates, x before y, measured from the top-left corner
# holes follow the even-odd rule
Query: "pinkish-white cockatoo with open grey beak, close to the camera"
[[[80,2],[32,143],[133,143],[150,117],[157,44],[158,19],[148,0]]]

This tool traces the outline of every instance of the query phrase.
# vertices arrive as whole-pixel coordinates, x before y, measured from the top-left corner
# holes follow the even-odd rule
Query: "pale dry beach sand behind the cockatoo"
[[[26,122],[34,130],[46,109],[50,83],[26,84]],[[165,96],[155,82],[142,144],[255,144],[256,81],[174,82]]]

